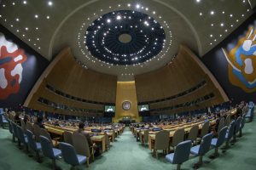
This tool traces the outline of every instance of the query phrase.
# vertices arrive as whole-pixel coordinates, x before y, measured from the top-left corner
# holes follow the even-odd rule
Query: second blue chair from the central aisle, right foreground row
[[[195,156],[199,156],[199,161],[195,164],[195,167],[200,167],[202,164],[203,156],[207,154],[210,150],[211,142],[212,142],[212,133],[206,134],[201,139],[201,144],[198,144],[191,148],[190,153]]]

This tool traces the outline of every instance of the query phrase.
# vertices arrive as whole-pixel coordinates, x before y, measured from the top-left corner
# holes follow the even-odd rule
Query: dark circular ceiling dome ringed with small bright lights
[[[97,60],[108,68],[125,65],[127,69],[129,65],[143,67],[152,59],[160,60],[166,56],[172,45],[172,31],[166,21],[140,4],[128,3],[125,6],[131,10],[95,13],[87,17],[80,27],[80,51],[92,63]],[[118,7],[121,5],[118,4]],[[100,9],[100,13],[102,11]]]

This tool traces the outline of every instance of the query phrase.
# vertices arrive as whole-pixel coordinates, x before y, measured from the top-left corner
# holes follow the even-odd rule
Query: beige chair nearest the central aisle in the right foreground
[[[169,141],[170,141],[170,133],[166,130],[162,130],[159,133],[155,134],[154,140],[154,154],[158,157],[157,150],[163,150],[164,152],[168,152],[169,150]]]

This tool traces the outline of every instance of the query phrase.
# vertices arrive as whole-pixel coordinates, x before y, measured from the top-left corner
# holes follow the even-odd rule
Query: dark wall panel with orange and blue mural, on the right
[[[248,37],[248,33],[251,32],[250,29],[252,28],[253,31],[251,37],[242,39],[243,37]],[[234,103],[238,103],[241,100],[253,100],[256,102],[256,81],[252,83],[253,80],[256,80],[256,46],[251,47],[249,51],[245,51],[242,48],[243,42],[246,39],[253,40],[255,33],[256,14],[253,14],[238,29],[236,29],[236,31],[232,32],[229,37],[224,39],[223,42],[219,43],[202,58],[205,65],[212,71],[212,74],[217,78],[226,94],[228,94],[229,98],[233,100]],[[255,39],[252,42],[252,45],[256,44]],[[236,46],[237,44],[240,45]],[[233,54],[230,54],[231,50],[234,52]],[[226,54],[224,54],[224,51]],[[236,57],[236,53],[239,52],[241,54],[238,54],[238,57]],[[239,58],[241,59],[240,64]],[[228,59],[233,66],[230,65]],[[245,59],[247,59],[247,61],[250,60],[248,62],[251,62],[252,65],[247,66],[251,68],[253,67],[253,72],[249,73],[250,71],[247,71],[246,73]],[[241,73],[238,74],[234,71],[234,66],[238,68]],[[252,69],[250,70],[252,71]],[[245,81],[242,82],[241,78],[238,78],[238,75],[240,75],[241,78],[244,78]],[[251,82],[251,85],[249,85],[248,82]]]

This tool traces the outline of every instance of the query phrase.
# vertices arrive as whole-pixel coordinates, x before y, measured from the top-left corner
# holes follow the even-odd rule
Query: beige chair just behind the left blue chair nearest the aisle
[[[73,133],[72,134],[73,146],[77,153],[82,156],[86,156],[87,166],[89,166],[90,158],[94,160],[94,149],[90,147],[87,139],[83,134]]]

